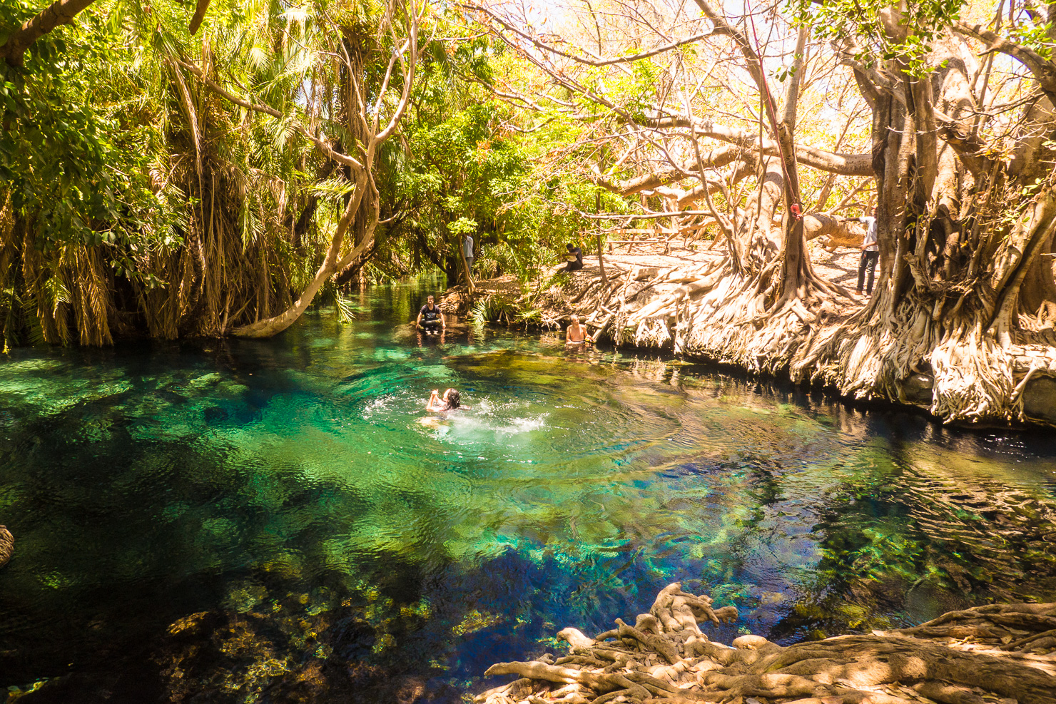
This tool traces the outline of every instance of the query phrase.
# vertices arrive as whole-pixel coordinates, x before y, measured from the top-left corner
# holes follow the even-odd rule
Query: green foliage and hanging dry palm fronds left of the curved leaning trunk
[[[39,9],[0,7],[0,36]],[[6,339],[33,341],[39,327],[45,341],[65,342],[73,324],[82,342],[101,344],[106,310],[118,305],[152,335],[214,334],[228,313],[283,305],[318,266],[315,230],[295,251],[283,222],[303,203],[305,172],[316,171],[310,146],[291,138],[288,120],[247,115],[175,69],[207,46],[225,76],[289,106],[313,69],[310,17],[219,0],[197,37],[188,19],[178,2],[102,0],[38,40],[24,68],[0,66],[0,204],[10,198],[26,233],[24,246],[21,235],[0,242],[0,260],[39,267],[24,281],[11,281],[17,262],[0,271],[0,286],[32,302],[5,323]],[[69,296],[46,289],[59,284]],[[54,320],[35,320],[42,311]]]

